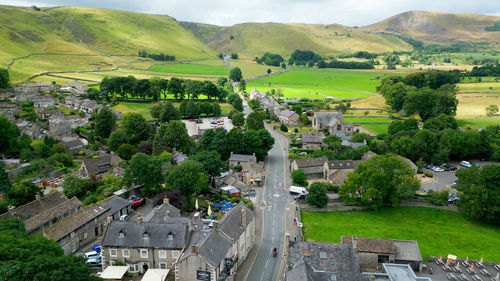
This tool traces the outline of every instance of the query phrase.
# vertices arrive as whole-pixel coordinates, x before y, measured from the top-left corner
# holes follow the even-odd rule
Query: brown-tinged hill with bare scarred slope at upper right
[[[500,17],[478,14],[453,14],[411,11],[395,15],[384,21],[364,26],[371,32],[388,32],[423,41],[425,43],[479,43],[490,42],[498,48],[500,32],[486,31]]]

